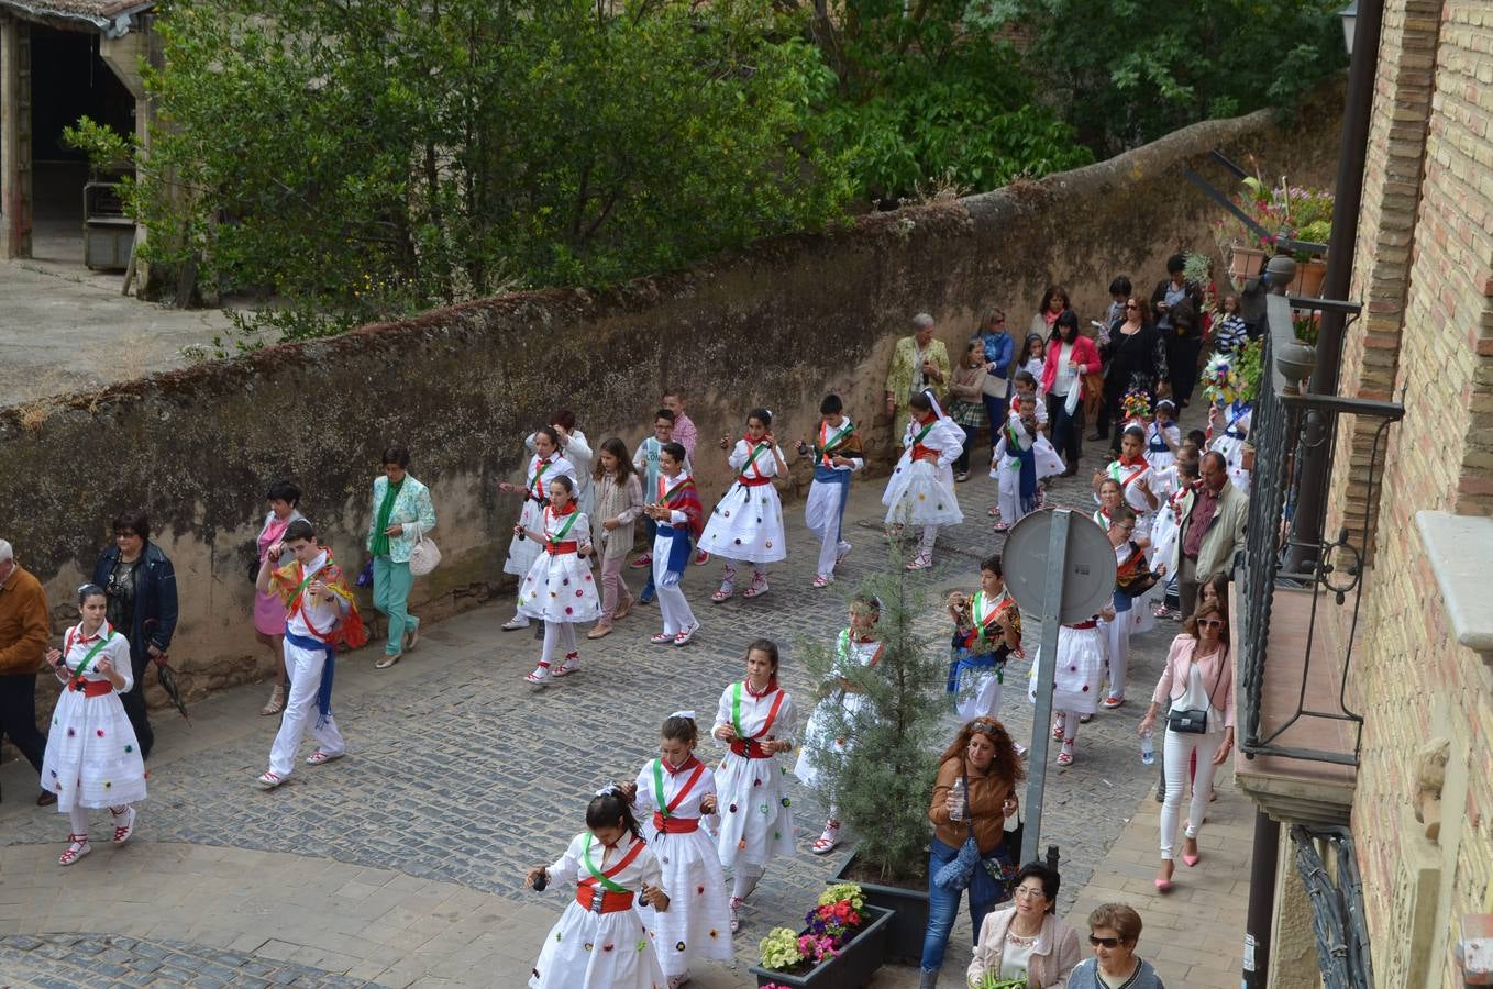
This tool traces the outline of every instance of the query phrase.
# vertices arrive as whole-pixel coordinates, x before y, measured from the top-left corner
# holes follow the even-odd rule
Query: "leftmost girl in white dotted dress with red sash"
[[[61,649],[46,652],[57,679],[67,686],[57,698],[42,758],[42,789],[57,794],[72,834],[58,865],[72,865],[93,849],[88,809],[107,807],[113,843],[134,834],[134,804],[145,800],[145,761],[119,695],[134,686],[130,644],[105,621],[103,588],[78,589],[82,621],[67,629]]]

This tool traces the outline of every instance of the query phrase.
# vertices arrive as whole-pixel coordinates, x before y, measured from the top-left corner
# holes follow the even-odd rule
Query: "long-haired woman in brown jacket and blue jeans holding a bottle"
[[[1005,852],[1006,819],[1015,817],[1015,786],[1026,779],[1017,746],[994,718],[976,718],[964,725],[939,759],[933,783],[929,820],[933,841],[929,852],[929,926],[923,935],[923,979],[920,989],[938,985],[948,932],[954,928],[959,898],[969,886],[969,920],[978,931],[985,914],[1005,891],[990,870],[1005,874],[1012,861]],[[979,862],[969,877],[950,876],[960,847],[973,835]],[[987,865],[988,864],[988,865]]]

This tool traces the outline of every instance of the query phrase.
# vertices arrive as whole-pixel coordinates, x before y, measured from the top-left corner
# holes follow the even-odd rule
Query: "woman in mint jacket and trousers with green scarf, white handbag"
[[[366,547],[373,553],[373,607],[388,616],[388,641],[373,665],[387,670],[420,641],[420,619],[409,613],[409,591],[415,576],[409,553],[436,528],[430,489],[409,473],[409,450],[384,450],[384,473],[373,479],[373,512],[369,515]]]

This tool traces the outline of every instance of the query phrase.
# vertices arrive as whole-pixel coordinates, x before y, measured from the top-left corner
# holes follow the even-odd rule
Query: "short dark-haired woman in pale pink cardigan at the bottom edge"
[[[1063,989],[1078,964],[1078,931],[1057,919],[1057,873],[1042,862],[1017,873],[1012,905],[979,925],[969,985],[987,976],[1026,979],[1035,989]]]

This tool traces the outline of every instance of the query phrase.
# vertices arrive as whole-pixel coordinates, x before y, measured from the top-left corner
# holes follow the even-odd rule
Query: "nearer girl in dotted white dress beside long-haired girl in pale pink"
[[[514,531],[518,533],[520,527],[515,525]],[[573,480],[560,476],[549,483],[549,504],[539,516],[539,528],[527,530],[524,536],[543,552],[518,588],[518,613],[545,624],[539,665],[524,679],[543,686],[551,676],[563,677],[581,668],[575,624],[591,622],[602,615],[591,577],[591,522],[575,503]],[[564,662],[551,670],[557,646],[566,650]]]

